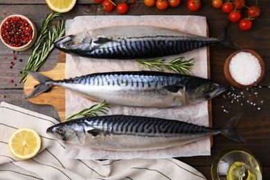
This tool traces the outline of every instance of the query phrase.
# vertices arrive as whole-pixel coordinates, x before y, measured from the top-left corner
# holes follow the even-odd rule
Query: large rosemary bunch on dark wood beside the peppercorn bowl
[[[59,12],[53,12],[47,15],[42,23],[42,29],[38,33],[37,41],[31,51],[30,57],[24,70],[37,71],[42,64],[46,61],[46,57],[53,50],[53,42],[64,35],[64,22],[58,21],[56,26],[51,26],[51,21],[55,17],[59,17]],[[21,73],[19,82],[23,82],[28,77],[28,73]]]

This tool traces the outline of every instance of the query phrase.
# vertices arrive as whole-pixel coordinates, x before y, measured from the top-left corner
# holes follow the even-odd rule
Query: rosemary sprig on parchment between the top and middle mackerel
[[[190,68],[194,65],[194,58],[190,60],[183,60],[183,57],[178,57],[171,62],[165,63],[165,59],[153,59],[153,60],[136,60],[138,63],[138,69],[141,66],[146,66],[151,71],[152,69],[156,69],[158,71],[163,71],[163,69],[168,69],[170,71],[174,71],[175,73],[182,73],[182,74],[191,74]]]

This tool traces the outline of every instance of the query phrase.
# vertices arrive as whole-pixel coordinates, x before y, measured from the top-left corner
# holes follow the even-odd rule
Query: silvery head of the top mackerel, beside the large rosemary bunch
[[[79,53],[91,45],[91,37],[88,33],[78,33],[76,35],[67,35],[53,42],[55,48],[66,53]]]

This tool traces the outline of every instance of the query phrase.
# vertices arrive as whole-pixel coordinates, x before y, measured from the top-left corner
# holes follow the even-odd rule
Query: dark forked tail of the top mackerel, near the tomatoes
[[[230,31],[231,31],[231,21],[226,24],[226,26],[222,29],[222,32],[219,33],[219,39],[221,39],[221,44],[224,44],[225,46],[228,46],[230,48],[235,48],[235,49],[242,49],[241,46],[236,44],[235,42],[231,41],[229,39]]]

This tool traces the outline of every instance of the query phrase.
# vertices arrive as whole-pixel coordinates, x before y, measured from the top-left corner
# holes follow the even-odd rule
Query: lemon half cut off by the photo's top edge
[[[73,8],[76,0],[46,0],[48,7],[56,12],[68,12]]]

